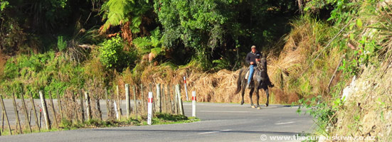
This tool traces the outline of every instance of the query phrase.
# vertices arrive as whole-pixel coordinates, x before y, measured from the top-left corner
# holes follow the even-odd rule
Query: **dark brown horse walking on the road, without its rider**
[[[268,102],[270,98],[270,94],[268,92],[268,86],[270,85],[271,87],[273,87],[273,84],[270,82],[270,79],[267,75],[267,60],[265,58],[261,58],[260,61],[256,61],[256,64],[258,66],[255,67],[255,72],[253,72],[253,78],[252,81],[250,82],[249,98],[250,98],[250,106],[252,108],[257,107],[258,109],[261,109],[259,105],[259,99],[260,99],[259,89],[264,89],[264,92],[267,96],[267,102],[265,103],[265,107],[268,107]],[[234,94],[238,94],[238,92],[241,91],[241,96],[242,96],[241,105],[244,104],[243,96],[245,94],[246,84],[248,83],[248,80],[245,79],[245,75],[247,74],[248,69],[249,69],[248,67],[243,67],[242,69],[240,69],[240,73],[238,75],[238,80],[237,80],[237,89],[235,90],[234,93]],[[253,91],[255,91],[258,100],[257,101],[258,105],[256,107],[253,105],[253,100],[252,100]]]

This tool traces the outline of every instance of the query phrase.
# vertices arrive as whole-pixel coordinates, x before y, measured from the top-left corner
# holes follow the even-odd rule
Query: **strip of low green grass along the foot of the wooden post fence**
[[[105,121],[101,121],[98,119],[90,119],[87,121],[70,121],[67,119],[63,119],[59,126],[53,126],[52,129],[46,130],[45,128],[41,129],[41,132],[48,131],[64,131],[64,130],[75,130],[75,129],[95,129],[95,128],[105,128],[105,127],[123,127],[123,126],[146,126],[147,125],[147,115],[138,116],[137,119],[135,117],[126,119],[122,117],[121,120],[108,119]],[[166,113],[156,113],[152,119],[152,125],[160,125],[160,124],[184,124],[184,123],[192,123],[200,121],[200,119],[196,117],[188,117],[184,115],[174,115],[174,114],[166,114]],[[23,127],[23,134],[30,133],[28,129]],[[1,136],[9,136],[10,133],[8,128],[4,127],[4,131],[1,131]],[[32,128],[32,133],[40,133],[37,127]],[[17,135],[21,133],[16,133],[16,129],[12,129],[12,134]]]

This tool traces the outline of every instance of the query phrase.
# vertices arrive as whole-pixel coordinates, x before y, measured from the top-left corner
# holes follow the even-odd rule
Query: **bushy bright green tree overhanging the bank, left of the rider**
[[[295,1],[282,0],[154,1],[164,28],[164,45],[193,52],[205,69],[219,64],[212,61],[221,58],[226,60],[225,67],[239,65],[234,62],[242,58],[231,57],[240,55],[240,48],[248,52],[250,45],[273,45],[290,30],[288,19],[295,16],[296,9]]]

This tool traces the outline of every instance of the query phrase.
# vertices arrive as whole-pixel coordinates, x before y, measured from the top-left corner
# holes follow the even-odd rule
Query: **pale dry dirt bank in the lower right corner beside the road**
[[[392,139],[392,66],[367,67],[344,90],[344,107],[337,112],[332,133],[338,136],[377,136]]]

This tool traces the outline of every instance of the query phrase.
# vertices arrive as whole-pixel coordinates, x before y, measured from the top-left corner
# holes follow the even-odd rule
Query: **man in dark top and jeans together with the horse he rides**
[[[270,77],[267,75],[267,57],[265,54],[261,54],[256,50],[255,45],[251,47],[252,51],[248,53],[246,57],[246,62],[250,64],[249,67],[249,75],[247,75],[248,68],[240,69],[240,74],[238,75],[237,81],[237,89],[235,90],[234,94],[238,94],[241,91],[242,101],[241,105],[244,103],[243,96],[245,94],[245,88],[249,88],[249,98],[250,98],[250,105],[253,106],[253,91],[256,92],[257,97],[257,108],[260,108],[259,105],[259,89],[264,89],[264,92],[267,96],[267,102],[265,103],[265,107],[268,107],[268,102],[270,98],[270,94],[268,92],[268,87],[274,87],[272,82],[270,81]],[[246,87],[245,87],[246,85]]]

